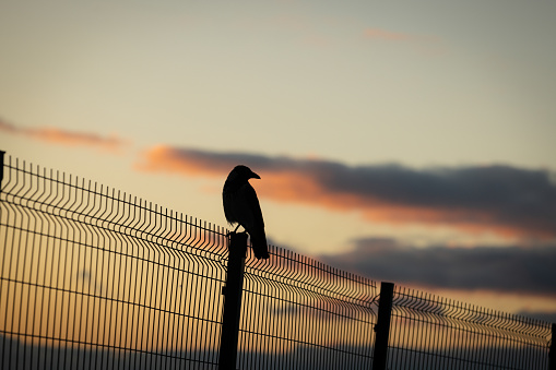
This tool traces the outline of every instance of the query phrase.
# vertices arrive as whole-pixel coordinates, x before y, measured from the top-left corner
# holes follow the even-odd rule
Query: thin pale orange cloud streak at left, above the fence
[[[68,145],[90,146],[117,152],[128,143],[117,136],[103,136],[91,132],[78,132],[56,128],[22,128],[0,120],[0,131],[24,135],[35,140]]]

